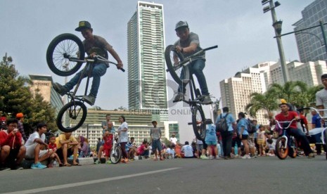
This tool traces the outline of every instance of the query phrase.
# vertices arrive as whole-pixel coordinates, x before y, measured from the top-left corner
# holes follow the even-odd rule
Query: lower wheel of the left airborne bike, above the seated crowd
[[[70,124],[70,126],[68,127],[65,127],[63,125],[63,122],[65,121],[65,113],[68,114],[69,117],[68,123]],[[75,131],[76,129],[82,126],[86,119],[86,115],[87,108],[84,103],[82,103],[81,101],[71,101],[70,103],[64,105],[63,108],[61,108],[58,112],[58,116],[56,119],[57,127],[60,129],[60,131],[63,131],[65,133]]]

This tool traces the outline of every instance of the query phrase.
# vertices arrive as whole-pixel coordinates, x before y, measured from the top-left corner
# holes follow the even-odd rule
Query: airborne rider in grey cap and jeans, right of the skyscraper
[[[200,51],[200,41],[198,34],[190,32],[188,28],[188,23],[186,21],[179,21],[176,24],[175,31],[179,40],[174,44],[177,51],[181,52],[184,57],[191,56],[193,53]],[[203,74],[203,69],[205,68],[205,53],[197,56],[192,63],[189,65],[191,68],[191,73],[195,74],[198,79],[201,93],[203,95],[203,104],[211,104],[210,93],[207,89],[207,81],[205,80],[205,75]],[[183,77],[181,77],[183,79]],[[178,93],[174,97],[174,101],[182,101],[186,93],[186,84],[179,85]]]

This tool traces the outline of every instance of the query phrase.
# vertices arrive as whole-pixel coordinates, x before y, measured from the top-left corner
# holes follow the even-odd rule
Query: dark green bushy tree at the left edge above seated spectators
[[[33,131],[39,122],[46,122],[49,129],[55,127],[55,110],[44,101],[44,98],[30,92],[30,79],[19,76],[15,70],[13,59],[4,56],[0,62],[0,111],[7,117],[15,117],[18,112],[23,112],[25,117],[24,129],[27,134]]]

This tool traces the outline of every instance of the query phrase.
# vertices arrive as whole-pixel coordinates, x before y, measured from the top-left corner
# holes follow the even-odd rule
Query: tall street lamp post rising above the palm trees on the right
[[[285,55],[284,55],[284,50],[283,50],[283,43],[281,42],[281,25],[282,21],[277,20],[276,17],[276,11],[275,8],[277,6],[280,6],[278,1],[274,2],[273,0],[262,0],[262,5],[269,3],[269,6],[264,7],[264,13],[267,11],[271,11],[271,17],[273,20],[273,27],[275,29],[275,35],[276,35],[276,40],[277,40],[277,46],[278,46],[278,53],[279,53],[279,58],[281,61],[281,72],[283,73],[283,81],[284,83],[288,82],[288,68],[286,67],[286,60],[285,60]]]

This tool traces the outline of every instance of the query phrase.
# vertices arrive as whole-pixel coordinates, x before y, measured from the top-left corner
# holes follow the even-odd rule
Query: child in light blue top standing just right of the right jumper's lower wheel
[[[205,130],[205,143],[207,144],[207,150],[209,152],[210,159],[219,159],[217,150],[217,136],[216,136],[216,127],[212,124],[212,119],[207,119],[205,121],[207,124],[207,129]]]

